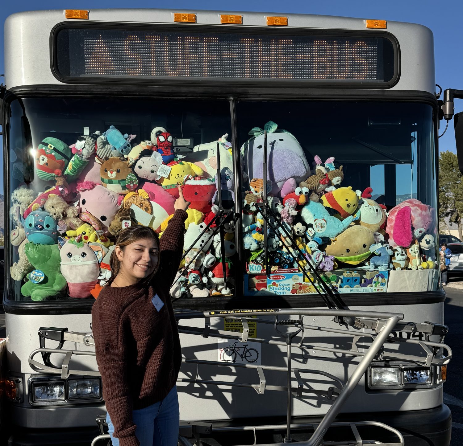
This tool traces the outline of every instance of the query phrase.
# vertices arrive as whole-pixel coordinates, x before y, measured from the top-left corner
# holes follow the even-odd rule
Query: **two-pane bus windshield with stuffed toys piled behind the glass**
[[[8,299],[94,299],[126,225],[162,237],[177,183],[191,202],[185,261],[171,289],[184,306],[190,297],[310,296],[322,290],[319,280],[337,293],[438,288],[430,105],[234,105],[238,141],[228,100],[14,100]],[[259,208],[264,130],[268,210]],[[211,223],[220,212],[217,150],[221,204],[239,211],[220,231]],[[97,262],[71,265],[66,256],[75,252],[59,250],[68,240],[76,253],[91,248]]]

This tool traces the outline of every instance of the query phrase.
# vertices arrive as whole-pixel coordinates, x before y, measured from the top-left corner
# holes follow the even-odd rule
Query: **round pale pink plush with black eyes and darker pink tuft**
[[[119,211],[121,196],[109,189],[91,182],[77,184],[78,206],[81,212],[96,217],[101,223],[101,229],[109,234],[108,226]]]

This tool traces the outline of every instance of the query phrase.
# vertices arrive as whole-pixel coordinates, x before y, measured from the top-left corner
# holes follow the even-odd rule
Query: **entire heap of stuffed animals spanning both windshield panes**
[[[264,130],[253,128],[239,153],[245,187],[238,200],[248,263],[270,265],[272,271],[282,264],[302,269],[310,264],[322,271],[352,265],[435,268],[433,208],[410,199],[386,212],[371,198],[370,188],[361,192],[341,185],[343,166],[335,165],[334,158],[322,162],[315,156],[311,168],[294,135],[271,121],[265,130],[265,184]],[[140,224],[162,237],[180,184],[191,204],[185,259],[171,294],[232,295],[235,275],[241,275],[233,271],[235,220],[215,219],[221,212],[218,189],[222,208],[233,208],[236,199],[227,137],[195,146],[188,155],[175,153],[173,137],[162,127],[136,145],[136,135],[122,134],[114,126],[104,133],[87,132],[70,146],[44,138],[34,160],[40,186],[25,181],[11,196],[16,260],[11,277],[23,282],[21,293],[35,301],[96,298],[111,277],[109,258],[117,236]]]

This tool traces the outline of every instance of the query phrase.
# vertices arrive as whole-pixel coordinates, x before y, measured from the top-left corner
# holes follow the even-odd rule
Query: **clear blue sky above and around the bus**
[[[449,0],[445,7],[437,7],[435,1],[429,0],[388,0],[378,2],[374,0],[289,0],[286,2],[277,0],[234,2],[212,0],[169,0],[146,1],[122,0],[92,1],[92,2],[63,2],[42,0],[37,1],[12,1],[3,0],[0,8],[0,23],[3,28],[5,19],[14,12],[30,11],[36,9],[97,9],[97,8],[124,8],[128,5],[132,8],[144,8],[149,4],[152,8],[171,9],[213,9],[223,11],[263,11],[263,12],[287,12],[304,14],[337,15],[346,17],[379,18],[396,20],[401,22],[413,22],[423,24],[434,33],[434,45],[436,55],[436,82],[445,88],[463,89],[463,59],[461,57],[461,45],[463,30],[459,20],[463,15],[463,2],[461,0]],[[3,31],[0,44],[0,73],[4,73],[3,60]],[[1,78],[3,81],[3,78]],[[456,111],[463,110],[463,100],[456,102]],[[442,131],[443,129],[441,129]],[[1,144],[1,143],[0,143]],[[455,152],[455,137],[453,122],[439,141],[439,149]],[[0,155],[0,163],[2,156]],[[0,185],[0,193],[3,191],[3,181]]]

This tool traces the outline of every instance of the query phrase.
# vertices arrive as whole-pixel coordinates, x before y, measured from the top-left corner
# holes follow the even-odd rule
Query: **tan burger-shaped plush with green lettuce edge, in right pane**
[[[331,244],[328,244],[325,252],[340,262],[358,265],[371,256],[370,246],[372,244],[375,244],[373,231],[354,225],[348,227]]]

